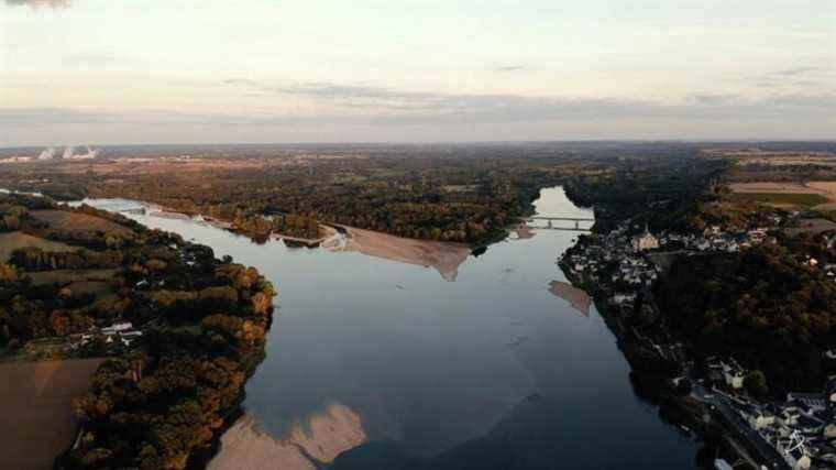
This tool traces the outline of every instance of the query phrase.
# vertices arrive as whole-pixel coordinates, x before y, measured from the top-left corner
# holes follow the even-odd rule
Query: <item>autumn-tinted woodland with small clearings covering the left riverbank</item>
[[[79,438],[55,467],[199,461],[239,413],[264,357],[271,283],[207,247],[89,207],[0,195],[0,236],[28,244],[0,263],[3,354],[13,359],[51,339],[63,341],[64,357],[109,358],[74,404]],[[76,228],[57,223],[66,220]],[[85,277],[91,273],[107,281]],[[125,321],[141,336],[105,334]]]

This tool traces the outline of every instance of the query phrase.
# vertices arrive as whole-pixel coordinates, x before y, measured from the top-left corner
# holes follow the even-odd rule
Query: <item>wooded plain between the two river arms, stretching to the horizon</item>
[[[211,163],[210,170],[165,163],[172,168],[166,172],[116,160],[86,172],[37,166],[0,174],[0,185],[56,198],[152,201],[230,222],[255,239],[279,233],[316,240],[326,223],[483,245],[502,239],[508,226],[529,214],[540,188],[600,173],[596,165],[618,164],[609,152],[490,146],[461,153],[417,147],[218,159],[200,160]]]

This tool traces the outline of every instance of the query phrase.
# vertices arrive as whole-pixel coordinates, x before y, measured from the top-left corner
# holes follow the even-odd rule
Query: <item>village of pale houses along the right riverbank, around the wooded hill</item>
[[[647,226],[630,236],[638,227],[632,220],[619,223],[606,234],[585,237],[573,250],[559,260],[568,277],[586,286],[606,299],[606,310],[619,317],[640,309],[657,309],[651,286],[678,256],[700,256],[716,252],[738,252],[759,243],[776,243],[774,231],[798,223],[798,212],[771,215],[772,227],[724,230],[708,226],[702,233],[650,232]],[[832,248],[836,236],[823,237]],[[811,270],[836,282],[836,265],[820,262],[814,256],[800,259]],[[688,348],[667,335],[644,332],[630,326],[616,332],[644,345],[659,361],[675,362],[681,371],[671,383],[689,391],[729,430],[729,447],[738,460],[715,460],[715,468],[727,470],[748,463],[755,468],[789,468],[793,470],[836,468],[836,376],[831,376],[818,393],[791,392],[785,400],[762,402],[752,397],[744,386],[750,371],[734,358],[710,357],[701,363],[689,354]],[[836,349],[825,352],[836,360]],[[706,373],[707,371],[707,373]],[[734,460],[734,459],[730,459]]]

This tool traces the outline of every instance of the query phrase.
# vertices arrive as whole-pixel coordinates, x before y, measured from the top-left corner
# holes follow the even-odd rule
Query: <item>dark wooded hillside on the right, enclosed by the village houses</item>
[[[824,352],[836,345],[836,284],[787,247],[680,259],[654,294],[700,356],[762,371],[776,395],[821,390],[835,371]]]

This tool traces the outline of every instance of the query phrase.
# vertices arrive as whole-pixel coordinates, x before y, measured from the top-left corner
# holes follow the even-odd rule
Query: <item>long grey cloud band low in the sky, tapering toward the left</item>
[[[680,101],[641,98],[535,97],[508,94],[465,95],[404,91],[386,87],[308,83],[273,86],[252,79],[230,79],[229,86],[262,95],[295,96],[330,106],[337,111],[363,110],[364,119],[388,122],[470,122],[628,119],[668,117],[704,119],[773,117],[777,113],[827,113],[836,94],[772,94],[748,97],[734,94],[693,94]]]

